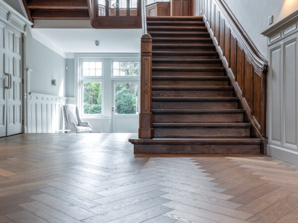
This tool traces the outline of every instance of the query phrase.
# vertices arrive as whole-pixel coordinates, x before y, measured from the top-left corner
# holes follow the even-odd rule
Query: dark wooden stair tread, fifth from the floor
[[[152,86],[153,89],[158,90],[222,90],[232,91],[233,86]]]

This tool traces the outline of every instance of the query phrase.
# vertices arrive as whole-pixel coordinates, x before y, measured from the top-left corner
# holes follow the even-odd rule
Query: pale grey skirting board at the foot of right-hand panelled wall
[[[298,166],[298,152],[268,144],[267,155]]]

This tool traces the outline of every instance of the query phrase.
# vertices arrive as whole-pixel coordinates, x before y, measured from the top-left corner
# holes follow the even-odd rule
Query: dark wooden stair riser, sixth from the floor
[[[153,86],[228,86],[227,80],[153,80]]]

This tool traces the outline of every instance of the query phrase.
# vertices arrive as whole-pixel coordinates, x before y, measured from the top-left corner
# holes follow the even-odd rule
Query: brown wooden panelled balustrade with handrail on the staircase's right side
[[[253,125],[253,135],[263,139],[263,153],[266,153],[268,62],[221,0],[203,0],[203,18],[247,119]]]

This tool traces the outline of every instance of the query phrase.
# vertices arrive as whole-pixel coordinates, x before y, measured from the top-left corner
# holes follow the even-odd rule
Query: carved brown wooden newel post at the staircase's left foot
[[[141,39],[141,106],[139,138],[153,138],[152,128],[152,38],[144,34]]]

